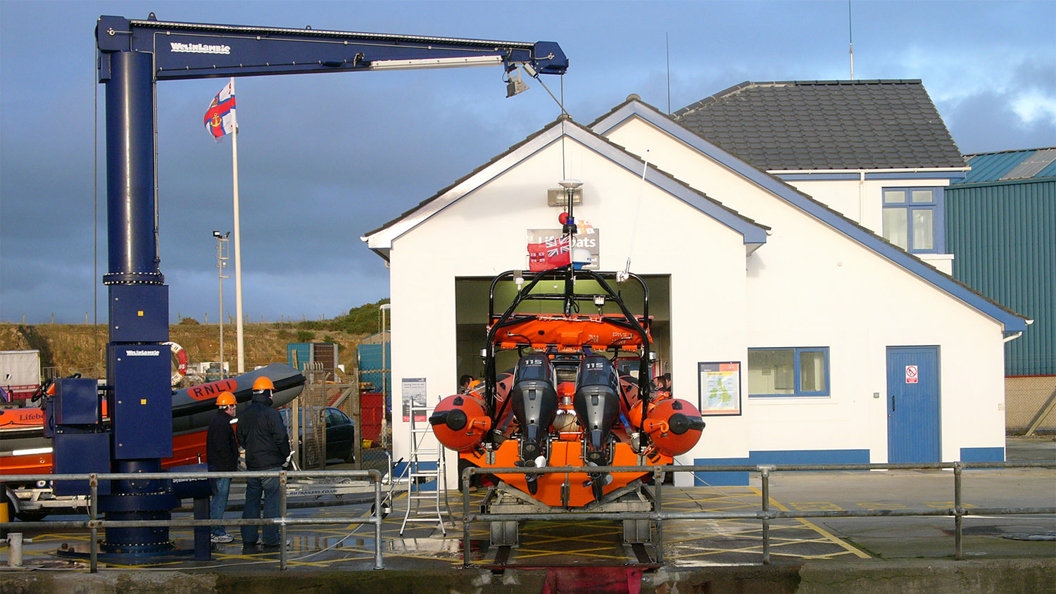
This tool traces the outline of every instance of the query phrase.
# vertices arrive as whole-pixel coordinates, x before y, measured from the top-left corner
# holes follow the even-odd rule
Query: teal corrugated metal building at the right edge
[[[1056,375],[1056,148],[965,157],[945,192],[954,277],[1034,320],[1005,344],[1006,376]]]

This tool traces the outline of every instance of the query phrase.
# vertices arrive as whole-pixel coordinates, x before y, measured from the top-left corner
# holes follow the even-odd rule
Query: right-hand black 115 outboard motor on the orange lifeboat
[[[586,357],[580,363],[572,407],[583,426],[583,460],[589,466],[604,466],[612,461],[612,425],[620,415],[620,379],[616,367],[601,355]],[[605,473],[590,474],[595,499],[611,481]]]

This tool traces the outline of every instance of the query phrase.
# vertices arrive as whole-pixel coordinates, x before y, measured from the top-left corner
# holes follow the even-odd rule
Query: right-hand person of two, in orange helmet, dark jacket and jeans
[[[289,458],[289,438],[286,426],[282,423],[279,411],[271,408],[271,392],[275,384],[265,377],[253,382],[253,400],[239,417],[239,443],[246,451],[247,471],[279,471]],[[279,517],[279,477],[246,479],[246,504],[242,517],[262,517],[261,497],[264,498],[263,517]],[[258,529],[261,526],[242,526],[243,548],[257,545]],[[278,551],[280,542],[279,526],[263,526],[261,544],[265,551]]]

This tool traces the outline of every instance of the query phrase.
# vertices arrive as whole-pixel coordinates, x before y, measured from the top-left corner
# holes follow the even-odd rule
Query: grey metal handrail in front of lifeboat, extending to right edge
[[[865,511],[779,511],[770,507],[770,475],[776,472],[810,472],[810,471],[920,471],[920,470],[953,470],[954,471],[954,506],[945,509],[898,509],[898,510],[865,510]],[[975,515],[1019,515],[1019,514],[1056,514],[1054,507],[973,507],[965,510],[961,499],[961,475],[965,470],[976,468],[1050,468],[1056,470],[1056,462],[934,462],[934,463],[875,463],[875,464],[724,464],[724,465],[657,465],[657,466],[560,466],[560,467],[479,467],[469,466],[463,470],[463,567],[469,568],[469,529],[473,521],[574,521],[574,520],[610,520],[611,513],[567,511],[559,513],[511,513],[485,514],[470,512],[469,486],[473,475],[497,474],[585,474],[585,473],[642,473],[652,474],[654,478],[653,512],[621,512],[620,520],[649,520],[656,522],[656,560],[663,562],[663,520],[696,520],[696,519],[757,519],[762,523],[762,562],[770,563],[770,520],[785,518],[861,518],[882,516],[954,516],[955,558],[964,558],[963,531],[961,522],[964,516]],[[663,511],[663,477],[665,473],[715,473],[715,472],[749,472],[759,473],[761,480],[761,509],[758,512],[664,512]],[[566,477],[566,480],[567,477]]]

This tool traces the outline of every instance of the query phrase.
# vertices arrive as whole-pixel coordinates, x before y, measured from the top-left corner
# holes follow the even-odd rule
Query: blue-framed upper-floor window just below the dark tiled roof
[[[884,188],[884,238],[910,253],[945,249],[941,187]]]

